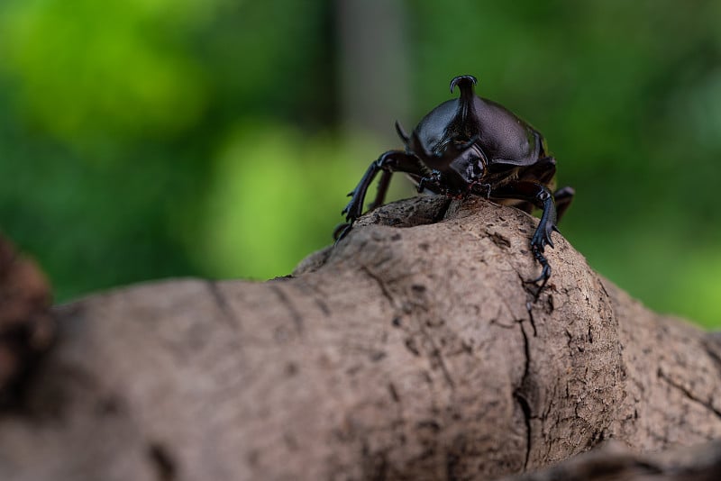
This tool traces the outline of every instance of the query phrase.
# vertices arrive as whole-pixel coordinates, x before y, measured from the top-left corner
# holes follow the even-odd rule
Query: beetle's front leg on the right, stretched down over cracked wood
[[[543,250],[547,245],[553,247],[551,233],[552,231],[558,230],[556,228],[556,205],[553,202],[551,191],[548,190],[548,187],[542,186],[541,184],[518,180],[494,189],[491,196],[519,199],[530,202],[536,207],[543,209],[541,221],[538,222],[538,227],[534,232],[534,236],[531,238],[531,250],[534,253],[534,259],[541,264],[542,271],[539,277],[527,281],[532,284],[540,282],[541,285],[538,290],[540,293],[546,285],[546,282],[548,282],[549,277],[551,277],[551,266],[548,263],[548,259],[543,256]]]

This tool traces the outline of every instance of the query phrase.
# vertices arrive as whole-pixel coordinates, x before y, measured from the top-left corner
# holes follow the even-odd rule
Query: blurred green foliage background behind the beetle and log
[[[546,136],[590,264],[721,326],[719,23],[711,0],[2,0],[0,229],[59,302],[284,275],[393,122],[473,74]]]

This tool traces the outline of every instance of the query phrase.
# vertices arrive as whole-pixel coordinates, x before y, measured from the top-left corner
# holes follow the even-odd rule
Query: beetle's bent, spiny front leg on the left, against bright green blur
[[[383,175],[380,179],[379,193],[376,195],[373,204],[371,204],[374,208],[383,202],[386,191],[388,190],[388,181],[393,172],[407,172],[418,176],[422,175],[418,160],[415,156],[403,150],[388,150],[388,152],[382,154],[378,160],[371,162],[366,173],[360,178],[358,186],[349,194],[351,202],[342,210],[342,213],[345,214],[346,223],[339,225],[335,228],[335,231],[333,231],[333,238],[336,242],[340,241],[345,234],[351,231],[351,225],[363,213],[363,202],[365,201],[368,188],[380,171],[383,172]]]

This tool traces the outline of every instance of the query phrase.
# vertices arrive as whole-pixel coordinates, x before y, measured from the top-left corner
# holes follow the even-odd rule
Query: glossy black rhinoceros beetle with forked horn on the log
[[[458,198],[480,195],[528,213],[538,207],[543,214],[531,238],[531,250],[542,272],[526,282],[540,282],[540,293],[551,277],[543,250],[546,245],[553,247],[551,233],[558,231],[556,222],[568,208],[574,191],[564,187],[552,194],[556,159],[549,155],[543,135],[502,105],[475,95],[476,83],[476,77],[470,75],[453,78],[451,93],[458,86],[460,98],[435,107],[411,135],[396,123],[406,149],[388,150],[370,164],[349,194],[351,202],[342,211],[347,223],[336,228],[334,237],[340,241],[351,230],[379,172],[378,194],[370,209],[383,204],[394,172],[405,172],[415,181],[418,192],[428,190]]]

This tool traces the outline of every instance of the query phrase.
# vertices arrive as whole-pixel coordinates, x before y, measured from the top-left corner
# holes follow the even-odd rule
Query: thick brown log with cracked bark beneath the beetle
[[[484,200],[370,213],[291,277],[173,280],[55,308],[4,480],[488,479],[617,440],[721,435],[721,343]],[[540,478],[539,478],[540,479]]]

